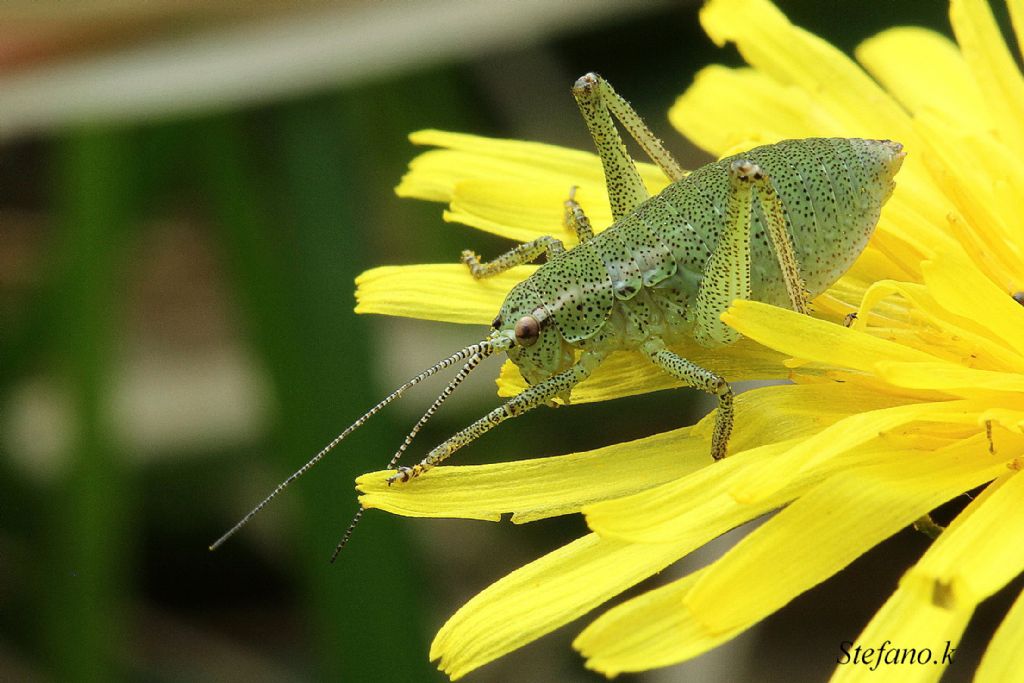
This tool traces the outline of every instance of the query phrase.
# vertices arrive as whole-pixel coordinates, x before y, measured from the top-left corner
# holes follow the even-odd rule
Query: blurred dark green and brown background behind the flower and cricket
[[[328,564],[352,479],[384,465],[435,389],[206,547],[481,334],[352,313],[367,268],[508,246],[393,196],[418,152],[408,133],[590,148],[569,86],[593,70],[693,167],[705,158],[666,112],[700,67],[738,63],[705,37],[698,4],[5,3],[0,680],[443,680],[427,651],[444,618],[584,527],[371,512]],[[934,1],[779,4],[844,49],[897,24],[948,31]],[[420,446],[497,404],[490,367]],[[459,462],[653,433],[692,422],[699,398],[537,411]],[[901,535],[723,651],[635,679],[821,678],[925,543]],[[468,680],[598,680],[569,648],[579,628]]]

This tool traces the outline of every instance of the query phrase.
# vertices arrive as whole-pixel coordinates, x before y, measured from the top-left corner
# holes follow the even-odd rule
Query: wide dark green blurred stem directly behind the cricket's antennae
[[[368,326],[350,312],[352,281],[364,263],[359,250],[366,239],[351,218],[350,206],[359,201],[352,177],[358,171],[339,134],[339,119],[330,100],[275,111],[275,133],[267,148],[276,173],[269,182],[252,173],[255,164],[246,163],[255,146],[246,143],[239,122],[215,120],[200,131],[200,165],[223,229],[223,253],[234,291],[243,297],[250,339],[280,400],[282,477],[375,400],[368,390]],[[269,198],[275,198],[278,206]],[[295,569],[319,664],[318,680],[436,676],[422,656],[426,646],[416,578],[410,572],[398,522],[379,519],[368,524],[376,538],[353,544],[337,565],[327,563],[346,515],[355,511],[352,478],[368,467],[366,461],[351,458],[358,453],[351,446],[371,444],[368,450],[379,451],[369,467],[386,460],[390,452],[379,440],[382,426],[369,426],[346,444],[346,452],[335,454],[289,490],[303,511]],[[395,433],[387,443],[393,446],[400,437]],[[395,643],[416,644],[421,654],[396,656]]]

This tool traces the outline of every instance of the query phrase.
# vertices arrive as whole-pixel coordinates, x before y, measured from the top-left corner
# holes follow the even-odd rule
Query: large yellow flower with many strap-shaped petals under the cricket
[[[1024,41],[1024,2],[1009,6]],[[736,301],[724,318],[744,339],[714,354],[680,349],[731,380],[794,381],[737,397],[726,460],[709,461],[709,417],[591,453],[442,467],[414,485],[388,488],[387,472],[359,479],[365,505],[404,515],[586,515],[590,535],[498,581],[444,625],[430,656],[453,678],[777,509],[721,559],[598,616],[574,643],[587,666],[610,676],[697,656],[984,484],[856,642],[938,655],[1024,569],[1024,307],[1014,297],[1024,289],[1024,78],[990,8],[954,0],[957,44],[892,29],[857,48],[860,66],[768,0],[712,0],[700,18],[750,68],[700,72],[670,114],[681,132],[716,155],[786,137],[897,139],[908,151],[897,190],[862,258],[816,299],[818,317]],[[566,189],[579,185],[595,225],[611,222],[592,155],[437,131],[413,139],[440,148],[414,161],[398,193],[447,202],[447,220],[528,240],[560,224]],[[651,167],[642,173],[652,189],[666,183]],[[357,310],[485,325],[530,271],[474,282],[461,265],[379,268],[358,281]],[[506,365],[499,384],[509,395],[521,380]],[[624,354],[573,399],[669,385]],[[943,668],[912,671],[934,679]],[[1022,672],[1024,597],[977,680]],[[836,679],[869,673],[840,666]]]

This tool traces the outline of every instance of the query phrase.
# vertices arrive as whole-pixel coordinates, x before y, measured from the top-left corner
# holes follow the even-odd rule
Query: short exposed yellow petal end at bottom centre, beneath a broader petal
[[[700,654],[709,640],[715,647],[734,638],[738,630],[708,634],[679,606],[702,573],[695,571],[601,614],[572,642],[587,657],[587,668],[611,678],[668,667]],[[700,649],[694,647],[697,643]]]

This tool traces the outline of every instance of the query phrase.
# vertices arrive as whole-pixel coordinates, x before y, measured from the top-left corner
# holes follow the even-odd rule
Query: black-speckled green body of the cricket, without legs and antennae
[[[542,325],[559,333],[510,350],[528,381],[571,365],[573,349],[630,349],[652,337],[672,343],[693,335],[693,303],[725,226],[728,168],[736,159],[767,173],[814,297],[864,249],[902,154],[888,140],[785,140],[708,164],[669,185],[592,240],[556,255],[509,294],[505,319],[539,311]],[[751,296],[786,306],[757,199],[752,213]]]

